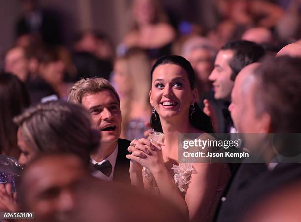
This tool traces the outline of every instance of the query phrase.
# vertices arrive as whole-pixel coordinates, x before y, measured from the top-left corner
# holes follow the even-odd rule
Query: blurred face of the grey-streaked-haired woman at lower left
[[[19,162],[22,165],[26,165],[35,156],[36,151],[32,148],[31,143],[26,139],[20,127],[17,132],[17,139],[18,147],[21,150]]]

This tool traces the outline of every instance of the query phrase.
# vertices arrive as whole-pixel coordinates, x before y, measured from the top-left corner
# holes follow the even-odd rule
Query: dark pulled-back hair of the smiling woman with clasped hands
[[[154,70],[159,65],[164,64],[175,64],[183,68],[187,72],[191,90],[195,88],[195,74],[193,68],[189,61],[187,61],[185,58],[179,55],[165,55],[163,57],[160,57],[151,69],[151,83]],[[199,108],[199,106],[196,103],[194,104],[194,107],[194,111],[192,111],[192,109],[189,110],[189,115],[191,114],[192,117],[189,118],[191,125],[207,133],[213,133],[214,130],[210,118]],[[156,111],[155,115],[158,115]],[[155,131],[163,132],[160,118],[156,118],[155,115],[151,115],[151,127]]]

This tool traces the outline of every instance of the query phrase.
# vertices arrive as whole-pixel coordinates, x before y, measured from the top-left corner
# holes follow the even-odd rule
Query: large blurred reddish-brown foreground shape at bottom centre
[[[172,204],[134,186],[82,181],[75,189],[73,222],[186,222]],[[101,211],[101,213],[99,213]]]

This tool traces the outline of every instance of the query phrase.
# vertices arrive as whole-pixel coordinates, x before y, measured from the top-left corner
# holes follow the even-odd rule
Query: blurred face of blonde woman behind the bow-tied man
[[[114,65],[114,82],[116,83],[118,93],[126,95],[131,91],[130,84],[128,83],[129,75],[126,73],[126,64],[124,60],[117,60]]]

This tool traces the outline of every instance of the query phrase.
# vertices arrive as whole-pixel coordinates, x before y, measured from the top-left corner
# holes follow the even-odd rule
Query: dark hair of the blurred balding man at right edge
[[[301,59],[267,57],[254,75],[257,114],[271,116],[273,133],[301,133]]]

